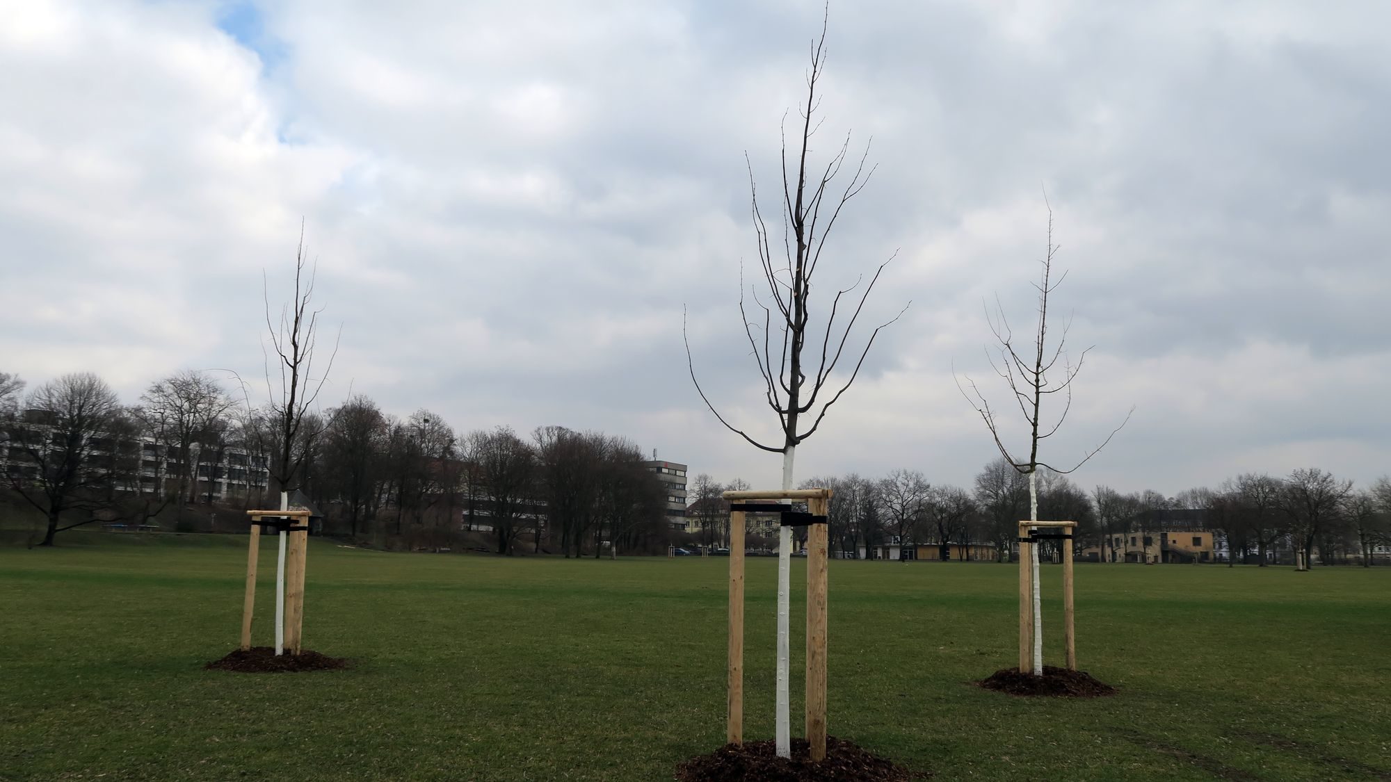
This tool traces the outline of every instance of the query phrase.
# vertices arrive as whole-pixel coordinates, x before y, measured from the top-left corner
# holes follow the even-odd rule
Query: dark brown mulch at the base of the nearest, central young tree
[[[931,774],[908,771],[869,754],[853,742],[826,736],[826,760],[812,763],[807,742],[791,740],[791,757],[778,757],[775,742],[725,744],[676,767],[677,782],[907,782]]]

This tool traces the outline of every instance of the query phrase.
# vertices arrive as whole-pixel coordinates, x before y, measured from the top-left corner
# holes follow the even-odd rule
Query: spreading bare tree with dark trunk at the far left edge
[[[92,373],[64,374],[35,388],[25,413],[10,426],[10,487],[47,519],[43,541],[97,520],[89,516],[63,525],[63,513],[96,511],[111,504],[121,423],[115,391]]]

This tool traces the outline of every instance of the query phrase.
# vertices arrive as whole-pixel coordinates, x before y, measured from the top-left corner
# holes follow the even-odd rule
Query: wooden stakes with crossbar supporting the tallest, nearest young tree
[[[829,488],[726,491],[729,513],[729,693],[726,740],[744,743],[744,513],[780,512],[785,526],[807,526],[807,743],[826,758],[826,504]],[[805,500],[807,513],[754,500]],[[789,523],[790,522],[790,523]]]

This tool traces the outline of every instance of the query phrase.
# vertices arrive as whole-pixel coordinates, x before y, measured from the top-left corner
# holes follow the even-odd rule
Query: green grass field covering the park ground
[[[246,675],[202,669],[238,639],[245,537],[64,538],[0,548],[0,779],[655,781],[723,742],[727,559],[316,540],[306,647],[356,665]],[[773,582],[750,559],[750,739],[772,736]],[[1121,687],[1085,701],[970,685],[1014,664],[1015,604],[1014,566],[832,562],[830,732],[938,779],[1391,779],[1385,569],[1079,565],[1081,667]]]

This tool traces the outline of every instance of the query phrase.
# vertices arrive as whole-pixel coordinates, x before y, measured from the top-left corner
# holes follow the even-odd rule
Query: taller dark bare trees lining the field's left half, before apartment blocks
[[[198,504],[278,506],[277,461],[331,532],[363,543],[483,538],[501,554],[580,557],[658,551],[670,534],[666,490],[622,437],[559,426],[529,438],[505,426],[459,434],[430,410],[398,417],[363,395],[310,410],[285,434],[274,404],[252,406],[193,370],[134,405],[90,373],[24,390],[0,373],[0,466],[46,519],[43,545],[96,522],[172,515],[178,526]]]

